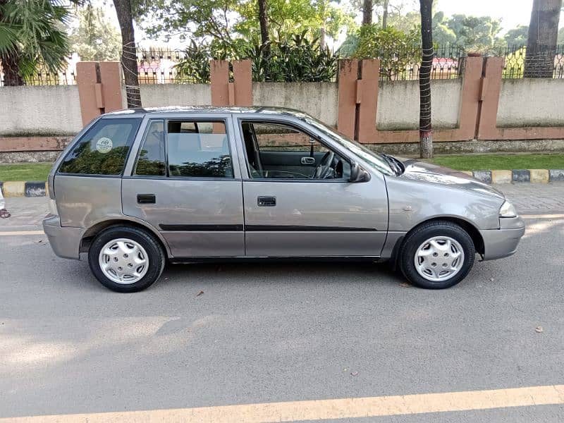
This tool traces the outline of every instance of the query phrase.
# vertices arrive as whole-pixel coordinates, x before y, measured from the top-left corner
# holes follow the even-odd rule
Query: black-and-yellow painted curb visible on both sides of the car
[[[564,169],[514,169],[513,171],[460,171],[485,183],[564,182]],[[42,180],[0,181],[4,197],[45,197],[49,191]]]

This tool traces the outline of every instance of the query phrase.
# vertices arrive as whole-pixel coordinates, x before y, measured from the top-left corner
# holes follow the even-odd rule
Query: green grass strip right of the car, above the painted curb
[[[432,161],[458,171],[564,169],[564,154],[449,154]]]

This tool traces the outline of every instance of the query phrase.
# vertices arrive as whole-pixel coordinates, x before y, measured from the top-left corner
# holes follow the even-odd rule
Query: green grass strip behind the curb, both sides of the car
[[[448,154],[433,163],[459,171],[564,169],[564,154]],[[47,180],[50,163],[0,164],[0,180]]]

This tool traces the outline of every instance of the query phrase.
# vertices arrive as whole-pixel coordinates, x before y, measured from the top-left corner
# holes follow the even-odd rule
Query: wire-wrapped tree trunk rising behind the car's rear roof
[[[133,107],[141,107],[141,92],[137,77],[137,47],[135,46],[131,2],[130,0],[114,0],[114,6],[121,28],[121,68],[125,81],[125,96],[128,101],[128,109],[133,109]]]

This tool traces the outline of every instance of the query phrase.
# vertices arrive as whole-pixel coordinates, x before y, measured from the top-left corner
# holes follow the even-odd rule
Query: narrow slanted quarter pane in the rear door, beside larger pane
[[[166,176],[164,121],[149,123],[135,165],[135,175]]]

